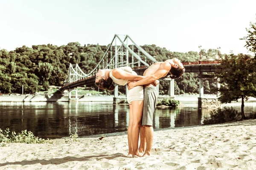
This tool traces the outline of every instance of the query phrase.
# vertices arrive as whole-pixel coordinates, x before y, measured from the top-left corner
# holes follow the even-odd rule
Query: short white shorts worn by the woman
[[[144,100],[143,86],[136,86],[128,91],[127,102],[131,105],[134,100]]]

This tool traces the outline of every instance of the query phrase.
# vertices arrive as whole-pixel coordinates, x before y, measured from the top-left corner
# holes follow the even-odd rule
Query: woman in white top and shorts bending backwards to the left
[[[128,66],[115,69],[99,69],[96,73],[95,83],[100,89],[108,89],[113,91],[115,86],[113,82],[118,85],[126,85],[129,80],[138,81],[144,76],[137,75]],[[158,84],[157,80],[155,84]],[[140,134],[140,124],[143,114],[143,86],[136,86],[128,91],[127,102],[129,103],[129,125],[128,125],[128,156],[142,156],[138,151],[138,142]]]

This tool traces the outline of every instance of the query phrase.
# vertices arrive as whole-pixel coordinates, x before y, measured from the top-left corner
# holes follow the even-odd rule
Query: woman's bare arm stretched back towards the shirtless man
[[[113,69],[112,75],[116,79],[126,79],[126,80],[133,80],[133,81],[139,81],[139,80],[145,78],[145,76],[134,75],[134,74],[128,73],[128,72],[123,71],[122,69],[118,69],[118,68]]]

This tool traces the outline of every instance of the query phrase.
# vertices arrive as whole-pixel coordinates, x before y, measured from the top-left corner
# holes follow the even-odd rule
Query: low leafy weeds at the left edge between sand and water
[[[51,143],[49,139],[41,139],[36,136],[31,131],[22,130],[21,133],[10,132],[9,128],[6,130],[0,129],[0,143]],[[1,144],[0,146],[5,146]]]

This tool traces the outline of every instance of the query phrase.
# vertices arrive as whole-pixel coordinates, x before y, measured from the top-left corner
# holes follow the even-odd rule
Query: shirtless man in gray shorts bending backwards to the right
[[[140,147],[139,152],[144,153],[143,156],[150,156],[153,145],[153,113],[157,104],[157,88],[154,81],[171,74],[170,78],[175,79],[183,75],[185,68],[179,59],[168,59],[165,62],[156,62],[150,65],[143,73],[145,78],[130,82],[128,89],[138,85],[144,85],[144,105],[142,127],[140,128]]]

